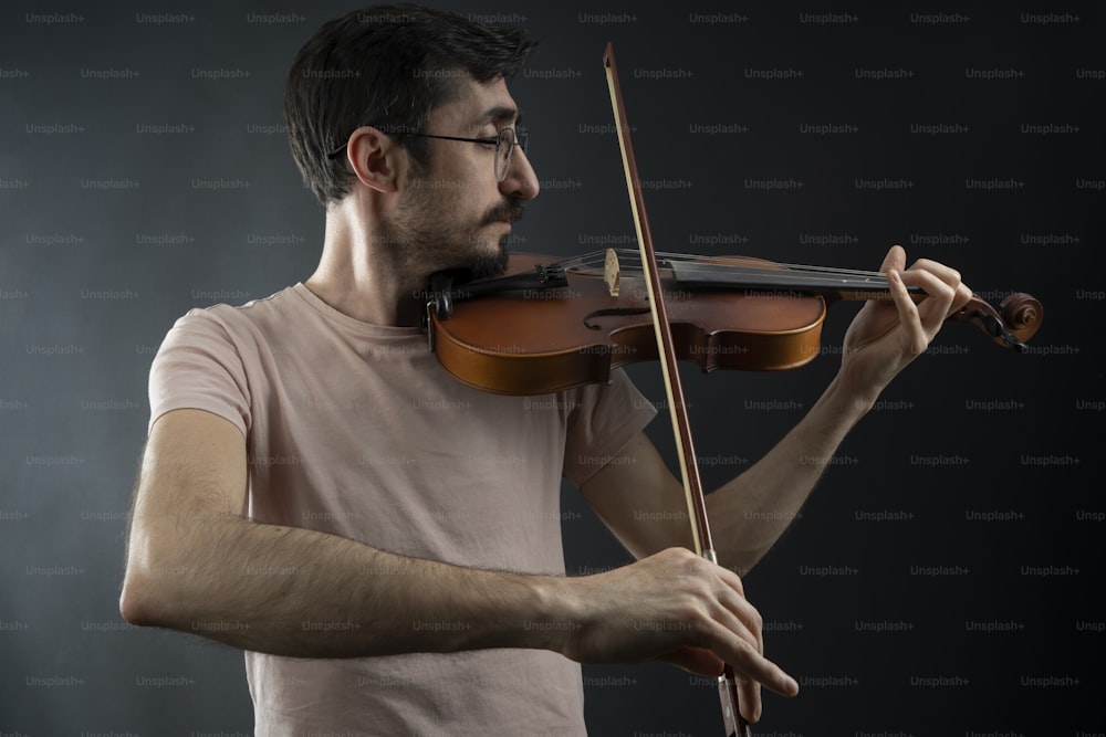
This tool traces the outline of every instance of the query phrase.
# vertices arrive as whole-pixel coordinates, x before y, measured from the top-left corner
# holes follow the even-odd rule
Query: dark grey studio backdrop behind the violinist
[[[119,620],[123,530],[173,320],[275,292],[317,257],[282,80],[352,7],[83,4],[0,11],[0,733],[248,734],[240,653]],[[803,686],[766,698],[757,734],[1106,733],[1100,11],[440,4],[542,41],[512,83],[543,186],[519,249],[633,238],[609,40],[660,248],[867,269],[898,242],[989,298],[1045,305],[1027,355],[950,326],[748,577]],[[688,371],[708,486],[816,399],[854,309],[835,307],[802,370]],[[656,367],[632,373],[659,403]],[[564,499],[570,569],[625,561]],[[717,734],[701,680],[585,677],[593,734]]]

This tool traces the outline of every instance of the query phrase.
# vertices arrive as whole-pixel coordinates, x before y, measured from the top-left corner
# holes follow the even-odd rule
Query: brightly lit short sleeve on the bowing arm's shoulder
[[[250,391],[242,357],[210,309],[194,309],[165,336],[149,371],[149,427],[173,410],[199,409],[249,432]]]

